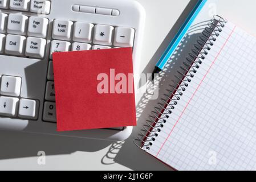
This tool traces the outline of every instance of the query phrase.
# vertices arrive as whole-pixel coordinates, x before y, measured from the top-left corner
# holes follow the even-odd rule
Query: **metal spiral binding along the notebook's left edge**
[[[178,104],[180,97],[186,91],[186,87],[189,86],[189,82],[192,81],[197,69],[204,61],[208,51],[214,45],[217,37],[222,32],[222,28],[225,27],[227,21],[221,16],[214,15],[213,19],[208,23],[208,27],[204,29],[202,34],[197,39],[197,44],[193,45],[192,51],[189,53],[186,60],[183,62],[183,66],[177,71],[175,76],[178,80],[172,80],[172,84],[166,89],[166,94],[161,98],[160,102],[149,115],[146,124],[134,139],[133,143],[142,150],[150,150],[153,142],[161,132],[161,128],[164,127],[166,119],[172,114],[172,110]],[[143,147],[142,147],[143,146]]]

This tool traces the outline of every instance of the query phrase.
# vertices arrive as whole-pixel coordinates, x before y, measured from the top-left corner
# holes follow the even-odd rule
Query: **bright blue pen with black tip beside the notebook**
[[[188,18],[186,18],[185,22],[182,24],[180,30],[178,30],[177,34],[174,36],[172,42],[170,42],[169,46],[166,48],[165,52],[162,54],[160,60],[156,64],[156,68],[153,72],[159,73],[164,68],[165,64],[168,62],[173,52],[177,49],[178,45],[181,43],[181,40],[184,38],[189,28],[192,26],[192,23],[196,19],[197,15],[200,13],[201,9],[204,7],[207,0],[199,0],[194,7],[194,9],[189,14]]]

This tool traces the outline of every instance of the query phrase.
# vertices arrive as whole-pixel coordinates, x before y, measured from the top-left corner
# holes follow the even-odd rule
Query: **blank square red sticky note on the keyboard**
[[[132,48],[53,54],[58,131],[136,125]]]

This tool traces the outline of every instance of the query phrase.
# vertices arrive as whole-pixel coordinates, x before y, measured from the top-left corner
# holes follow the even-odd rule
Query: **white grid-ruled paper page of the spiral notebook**
[[[233,28],[227,23],[165,124],[169,138],[160,134],[148,151],[173,168],[256,169],[256,39]]]

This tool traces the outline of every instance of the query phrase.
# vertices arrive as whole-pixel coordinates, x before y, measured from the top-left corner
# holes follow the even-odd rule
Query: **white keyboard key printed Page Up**
[[[46,38],[48,23],[49,20],[47,18],[31,16],[29,18],[27,34],[37,38]]]

